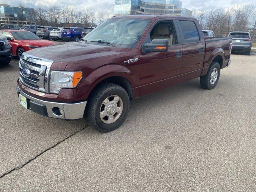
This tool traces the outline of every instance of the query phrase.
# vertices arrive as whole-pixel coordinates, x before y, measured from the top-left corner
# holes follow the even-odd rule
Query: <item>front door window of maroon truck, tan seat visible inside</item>
[[[174,25],[172,21],[157,23],[150,32],[150,39],[167,39],[169,45],[177,44]]]

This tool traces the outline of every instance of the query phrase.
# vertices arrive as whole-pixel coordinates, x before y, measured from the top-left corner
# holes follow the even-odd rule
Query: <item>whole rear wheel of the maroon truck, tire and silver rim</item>
[[[220,64],[212,62],[206,75],[200,77],[201,87],[204,89],[213,89],[220,78]]]

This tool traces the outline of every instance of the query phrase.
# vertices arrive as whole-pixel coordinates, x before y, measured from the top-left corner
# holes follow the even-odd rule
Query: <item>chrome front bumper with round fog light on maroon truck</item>
[[[28,109],[43,116],[58,119],[75,120],[83,118],[86,101],[75,103],[59,103],[40,100],[24,93],[17,86],[17,94],[26,97]]]

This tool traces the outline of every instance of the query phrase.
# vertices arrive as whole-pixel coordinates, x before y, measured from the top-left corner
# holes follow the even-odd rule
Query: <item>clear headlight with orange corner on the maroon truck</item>
[[[62,88],[74,88],[82,79],[82,72],[51,71],[50,92],[58,93]]]

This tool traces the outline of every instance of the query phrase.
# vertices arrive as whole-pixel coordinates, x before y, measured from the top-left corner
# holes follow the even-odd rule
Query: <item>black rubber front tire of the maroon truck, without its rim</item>
[[[119,96],[122,99],[123,108],[119,118],[117,118],[116,121],[107,124],[100,118],[100,111],[102,102],[112,95]],[[130,99],[124,88],[113,83],[100,84],[90,94],[87,100],[84,116],[88,124],[93,126],[96,130],[100,132],[110,132],[118,128],[124,122],[129,107]]]

